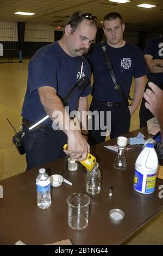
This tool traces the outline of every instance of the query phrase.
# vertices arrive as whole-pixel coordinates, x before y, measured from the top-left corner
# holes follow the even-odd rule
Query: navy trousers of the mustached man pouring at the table
[[[63,146],[66,143],[67,136],[64,132],[48,127],[24,135],[23,146],[26,151],[26,170],[64,157],[66,154],[63,151]]]

